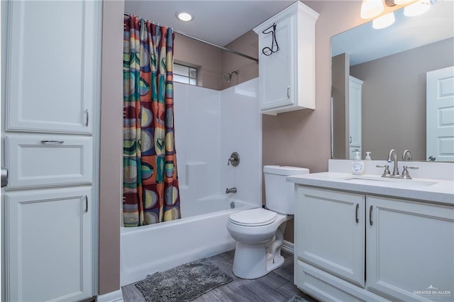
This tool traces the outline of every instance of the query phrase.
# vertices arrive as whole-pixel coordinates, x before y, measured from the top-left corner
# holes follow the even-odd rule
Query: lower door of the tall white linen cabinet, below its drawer
[[[7,301],[77,301],[92,286],[90,187],[6,194]]]

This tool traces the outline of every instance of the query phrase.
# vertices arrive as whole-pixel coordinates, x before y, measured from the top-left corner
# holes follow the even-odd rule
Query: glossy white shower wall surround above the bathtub
[[[187,211],[194,211],[192,203],[226,196],[227,187],[237,188],[232,198],[261,205],[262,125],[257,91],[258,79],[223,91],[175,83],[175,145],[183,218]],[[238,167],[227,165],[232,152],[240,155]]]

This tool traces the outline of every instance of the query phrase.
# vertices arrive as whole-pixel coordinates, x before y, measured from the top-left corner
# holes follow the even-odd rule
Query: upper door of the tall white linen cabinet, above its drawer
[[[95,6],[96,1],[10,1],[7,130],[92,133]]]

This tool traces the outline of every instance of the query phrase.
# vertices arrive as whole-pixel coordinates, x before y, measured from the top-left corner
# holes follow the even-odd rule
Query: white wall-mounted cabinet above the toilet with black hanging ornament
[[[259,44],[260,112],[276,115],[303,108],[315,109],[315,23],[318,17],[319,13],[297,1],[254,28]],[[265,47],[277,51],[265,55],[262,52]]]

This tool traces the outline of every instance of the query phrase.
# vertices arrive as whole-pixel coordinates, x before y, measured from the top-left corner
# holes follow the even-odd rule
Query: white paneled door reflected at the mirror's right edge
[[[454,162],[454,66],[427,72],[426,159]]]

